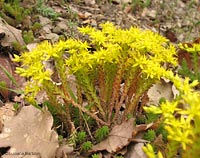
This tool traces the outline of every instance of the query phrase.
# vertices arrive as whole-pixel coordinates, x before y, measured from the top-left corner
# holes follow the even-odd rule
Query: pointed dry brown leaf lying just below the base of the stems
[[[133,118],[121,125],[116,125],[105,140],[93,146],[91,152],[107,150],[110,153],[115,153],[119,151],[130,143],[134,128]]]

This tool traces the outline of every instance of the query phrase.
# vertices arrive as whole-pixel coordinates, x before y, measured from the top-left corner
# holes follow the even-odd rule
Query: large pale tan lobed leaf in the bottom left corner
[[[11,148],[2,158],[55,157],[58,135],[51,129],[52,124],[53,117],[47,109],[23,107],[18,115],[4,123],[0,147]]]

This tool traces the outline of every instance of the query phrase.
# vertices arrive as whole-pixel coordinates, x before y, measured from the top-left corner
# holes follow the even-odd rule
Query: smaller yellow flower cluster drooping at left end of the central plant
[[[17,67],[16,72],[30,79],[27,82],[25,94],[32,93],[32,100],[40,91],[43,82],[51,80],[53,72],[45,66],[45,61],[60,58],[67,48],[66,46],[64,41],[60,41],[55,45],[44,41],[31,52],[24,52],[20,56],[14,55],[13,61],[21,63],[21,67]]]

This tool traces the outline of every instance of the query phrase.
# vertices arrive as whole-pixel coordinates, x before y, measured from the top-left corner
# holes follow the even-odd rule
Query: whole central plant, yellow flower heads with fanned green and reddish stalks
[[[156,33],[135,27],[123,30],[109,22],[100,26],[101,30],[79,28],[88,40],[44,41],[14,58],[22,63],[16,72],[28,79],[26,98],[34,101],[38,92],[46,91],[58,113],[64,113],[69,134],[76,128],[74,117],[85,120],[80,119],[83,115],[96,125],[117,124],[123,103],[123,118],[134,117],[141,96],[166,76],[164,65],[177,64],[175,48]],[[53,72],[44,64],[48,61],[55,63]],[[69,75],[75,77],[77,93],[70,87]],[[73,108],[79,116],[74,116]]]

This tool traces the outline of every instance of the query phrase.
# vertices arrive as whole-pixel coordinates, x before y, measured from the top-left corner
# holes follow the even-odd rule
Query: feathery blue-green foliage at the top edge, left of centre
[[[59,14],[55,12],[53,8],[45,5],[44,0],[37,0],[36,10],[43,16],[50,17],[54,20],[56,20],[59,16]]]

